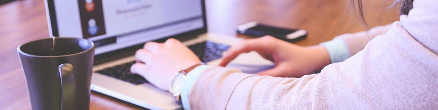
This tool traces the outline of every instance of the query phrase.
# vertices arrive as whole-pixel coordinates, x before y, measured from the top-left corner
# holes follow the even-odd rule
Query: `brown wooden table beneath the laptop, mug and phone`
[[[386,7],[393,0],[364,0],[370,26],[398,20],[397,10]],[[316,45],[333,37],[363,31],[346,8],[348,0],[206,0],[209,32],[236,35],[235,27],[249,21],[306,29],[301,46]],[[43,0],[19,0],[0,6],[0,109],[30,109],[29,96],[17,55],[17,46],[48,38]],[[91,93],[90,109],[143,109],[100,94]]]

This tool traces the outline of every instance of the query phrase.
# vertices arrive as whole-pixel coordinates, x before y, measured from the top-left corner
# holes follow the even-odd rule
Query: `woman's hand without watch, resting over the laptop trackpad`
[[[228,50],[220,66],[226,66],[241,53],[256,51],[275,67],[257,73],[275,77],[302,77],[330,64],[325,47],[301,47],[272,36],[243,40]]]

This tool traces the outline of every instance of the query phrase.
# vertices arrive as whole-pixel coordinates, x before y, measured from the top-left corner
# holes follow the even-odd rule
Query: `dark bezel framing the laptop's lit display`
[[[48,14],[46,16],[47,16],[47,20],[48,20],[49,35],[50,35],[50,37],[59,37],[54,0],[45,0],[45,3],[46,3],[46,14]],[[203,22],[204,26],[202,28],[195,29],[192,31],[187,31],[187,32],[180,33],[177,35],[166,36],[166,37],[163,37],[161,39],[154,40],[154,41],[164,42],[165,40],[167,40],[169,38],[175,38],[175,39],[184,41],[184,40],[187,40],[190,38],[197,37],[200,34],[207,33],[207,17],[206,17],[206,12],[205,12],[205,0],[201,0],[201,8],[202,8],[202,19],[204,20],[204,22]],[[146,42],[144,42],[144,43],[146,43]],[[137,51],[140,48],[143,48],[144,43],[96,55],[95,59],[94,59],[94,65],[108,62],[108,61],[118,59],[118,58],[131,56],[131,55],[135,54],[135,51]]]

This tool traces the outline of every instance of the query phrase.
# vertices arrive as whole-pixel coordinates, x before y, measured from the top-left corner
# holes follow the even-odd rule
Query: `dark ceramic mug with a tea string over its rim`
[[[95,46],[81,38],[52,38],[17,48],[32,109],[89,109]]]

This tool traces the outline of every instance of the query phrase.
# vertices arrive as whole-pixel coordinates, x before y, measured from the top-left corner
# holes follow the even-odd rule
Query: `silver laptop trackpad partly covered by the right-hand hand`
[[[255,74],[274,66],[275,64],[272,61],[263,58],[255,51],[242,53],[227,65],[227,67],[236,68],[250,74]]]

